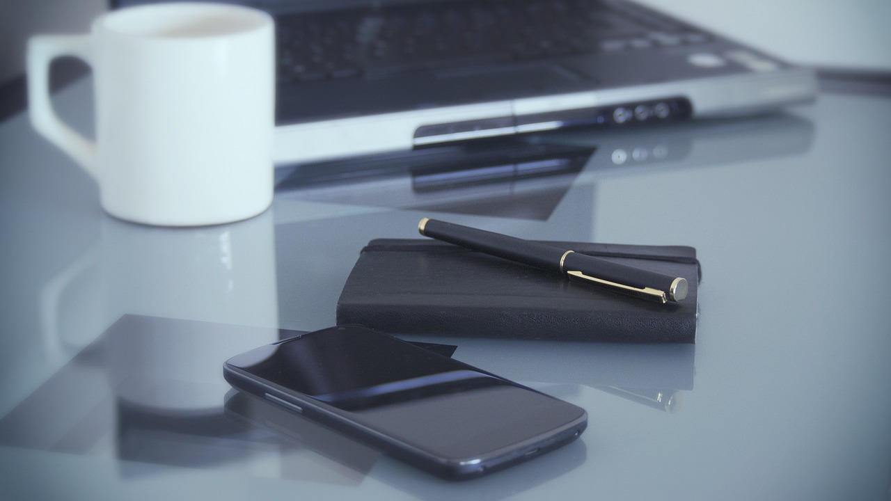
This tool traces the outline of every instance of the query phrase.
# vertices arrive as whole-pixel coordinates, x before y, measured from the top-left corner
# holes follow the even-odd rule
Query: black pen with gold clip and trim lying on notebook
[[[421,219],[418,231],[424,236],[443,242],[555,271],[571,279],[636,298],[664,303],[680,301],[687,297],[687,280],[680,276],[662,275],[541,242],[531,242],[436,219]]]

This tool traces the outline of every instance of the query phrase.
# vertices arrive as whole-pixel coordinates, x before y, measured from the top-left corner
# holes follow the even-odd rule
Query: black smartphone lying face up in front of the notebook
[[[226,361],[236,389],[426,472],[478,477],[566,445],[581,407],[385,333],[339,325]]]

